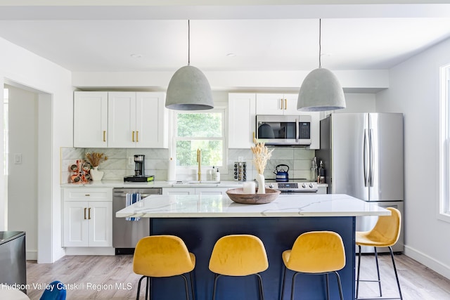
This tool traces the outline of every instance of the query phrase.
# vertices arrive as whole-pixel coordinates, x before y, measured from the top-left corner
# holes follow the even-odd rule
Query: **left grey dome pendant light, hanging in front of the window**
[[[191,26],[188,20],[188,65],[179,68],[167,86],[166,107],[171,110],[210,110],[214,108],[210,83],[191,64]]]

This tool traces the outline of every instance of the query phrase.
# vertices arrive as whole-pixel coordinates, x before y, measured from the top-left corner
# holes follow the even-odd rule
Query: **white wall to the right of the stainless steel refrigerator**
[[[404,113],[405,254],[450,278],[450,223],[439,205],[439,67],[450,63],[450,39],[390,70],[379,112]]]

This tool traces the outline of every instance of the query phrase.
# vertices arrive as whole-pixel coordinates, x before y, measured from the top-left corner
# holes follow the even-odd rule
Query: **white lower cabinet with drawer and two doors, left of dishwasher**
[[[113,190],[63,189],[63,247],[113,246]]]

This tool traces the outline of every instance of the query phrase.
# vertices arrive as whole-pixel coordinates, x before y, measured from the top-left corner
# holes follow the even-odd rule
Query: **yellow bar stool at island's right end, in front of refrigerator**
[[[388,207],[388,210],[391,211],[390,216],[379,216],[377,223],[373,226],[370,231],[356,231],[355,242],[358,245],[358,274],[356,275],[356,299],[359,295],[359,282],[378,282],[378,289],[380,290],[380,296],[376,298],[364,298],[364,299],[382,299],[380,297],[383,296],[381,291],[381,280],[380,280],[380,268],[378,267],[378,253],[377,247],[388,247],[391,259],[392,266],[394,266],[395,279],[397,280],[397,287],[399,289],[399,297],[398,298],[384,298],[384,299],[403,299],[401,296],[399,275],[397,274],[397,268],[395,266],[394,261],[394,253],[392,252],[392,246],[399,240],[400,236],[400,228],[401,228],[401,214],[398,209],[394,209],[393,207]],[[359,279],[359,270],[361,266],[361,246],[369,246],[375,249],[375,263],[377,266],[377,275],[378,280],[360,280]]]

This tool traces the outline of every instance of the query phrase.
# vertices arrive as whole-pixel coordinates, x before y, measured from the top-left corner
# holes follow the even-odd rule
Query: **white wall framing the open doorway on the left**
[[[68,70],[36,56],[34,53],[0,39],[0,95],[3,95],[5,82],[17,82],[37,91],[46,103],[46,122],[50,124],[51,136],[46,136],[49,147],[43,155],[49,157],[45,163],[47,169],[45,181],[39,186],[38,202],[38,262],[51,263],[64,255],[61,245],[61,205],[60,205],[60,147],[72,147],[72,86],[71,74]],[[45,94],[46,93],[46,94]],[[39,108],[40,109],[40,108]],[[50,110],[50,111],[49,111]],[[39,115],[41,115],[39,113]],[[40,122],[40,121],[39,121]],[[0,106],[0,124],[3,124],[3,105]],[[39,138],[40,140],[40,138]],[[0,131],[0,157],[4,157],[3,131]],[[39,145],[39,148],[40,145]],[[3,159],[0,159],[0,170],[3,170]],[[3,171],[0,172],[0,190],[5,190]],[[41,185],[41,184],[39,184]],[[44,190],[45,193],[41,192]],[[5,230],[4,195],[0,196],[0,230]]]

